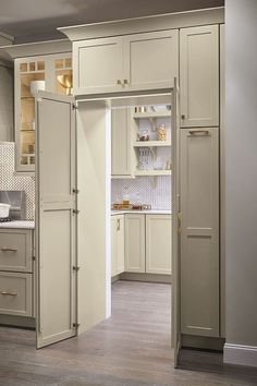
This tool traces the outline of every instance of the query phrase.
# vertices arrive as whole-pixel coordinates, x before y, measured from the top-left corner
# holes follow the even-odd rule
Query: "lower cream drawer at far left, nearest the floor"
[[[32,276],[0,273],[0,314],[32,316]]]

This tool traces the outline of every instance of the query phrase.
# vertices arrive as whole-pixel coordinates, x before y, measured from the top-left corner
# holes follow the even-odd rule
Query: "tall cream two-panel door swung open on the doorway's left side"
[[[37,348],[76,335],[74,99],[40,92],[36,104]]]

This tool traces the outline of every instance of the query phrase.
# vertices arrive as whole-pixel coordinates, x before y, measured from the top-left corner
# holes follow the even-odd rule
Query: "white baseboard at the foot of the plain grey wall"
[[[257,367],[257,347],[243,345],[224,345],[224,363]]]

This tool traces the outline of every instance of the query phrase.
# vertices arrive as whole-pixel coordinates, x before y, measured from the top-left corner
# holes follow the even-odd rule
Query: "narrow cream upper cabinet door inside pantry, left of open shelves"
[[[111,112],[111,176],[132,178],[131,110],[113,109]]]

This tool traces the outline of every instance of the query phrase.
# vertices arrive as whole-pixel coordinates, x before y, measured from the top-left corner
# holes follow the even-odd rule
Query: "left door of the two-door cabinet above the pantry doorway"
[[[122,38],[75,41],[74,94],[88,95],[120,92],[122,86]]]

